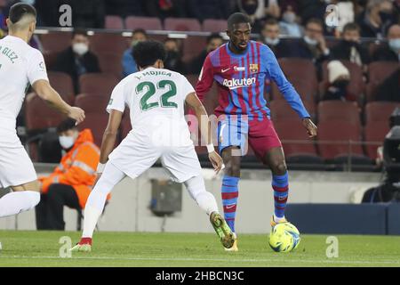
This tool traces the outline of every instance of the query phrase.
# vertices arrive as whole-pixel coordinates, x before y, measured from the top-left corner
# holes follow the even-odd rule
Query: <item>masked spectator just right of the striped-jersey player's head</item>
[[[289,46],[279,38],[279,34],[278,21],[273,18],[267,20],[261,31],[261,42],[269,46],[276,58],[286,57],[289,54]]]

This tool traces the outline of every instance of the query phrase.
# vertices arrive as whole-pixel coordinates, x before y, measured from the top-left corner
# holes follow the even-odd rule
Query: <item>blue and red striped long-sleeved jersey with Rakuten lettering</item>
[[[213,81],[218,83],[221,114],[248,115],[249,119],[270,118],[270,110],[264,98],[267,80],[276,82],[279,91],[300,118],[310,117],[301,102],[300,95],[284,77],[274,53],[267,45],[250,41],[245,53],[232,53],[228,44],[221,45],[205,58],[203,69],[196,84],[200,100],[211,89]]]

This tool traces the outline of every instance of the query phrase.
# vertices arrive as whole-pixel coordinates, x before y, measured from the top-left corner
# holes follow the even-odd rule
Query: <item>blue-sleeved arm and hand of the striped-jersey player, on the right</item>
[[[308,111],[304,107],[301,101],[300,95],[294,89],[293,85],[286,79],[284,72],[280,68],[274,53],[265,46],[266,58],[268,59],[268,72],[270,77],[274,80],[278,86],[281,94],[284,95],[284,99],[291,105],[292,109],[295,110],[299,117],[302,119],[303,126],[306,128],[308,136],[316,136],[316,125],[311,120]]]

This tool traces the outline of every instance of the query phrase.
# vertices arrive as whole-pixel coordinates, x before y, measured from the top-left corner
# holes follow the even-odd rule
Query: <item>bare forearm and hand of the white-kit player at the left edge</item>
[[[69,106],[67,102],[62,100],[60,94],[52,88],[49,81],[44,79],[36,80],[32,87],[36,91],[36,94],[55,110],[60,111],[60,113],[67,115],[69,118],[75,119],[78,124],[84,120],[84,110]]]

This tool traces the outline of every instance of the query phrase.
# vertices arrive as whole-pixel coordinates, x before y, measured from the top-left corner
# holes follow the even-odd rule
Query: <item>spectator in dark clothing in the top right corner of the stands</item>
[[[393,4],[390,0],[370,0],[364,14],[359,17],[361,37],[382,38],[394,21]]]

